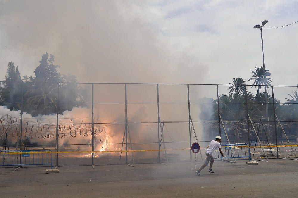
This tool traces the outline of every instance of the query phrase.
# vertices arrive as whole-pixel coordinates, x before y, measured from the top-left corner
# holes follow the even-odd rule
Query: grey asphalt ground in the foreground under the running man
[[[215,161],[201,176],[193,162],[0,168],[0,197],[297,197],[297,160],[246,161]]]

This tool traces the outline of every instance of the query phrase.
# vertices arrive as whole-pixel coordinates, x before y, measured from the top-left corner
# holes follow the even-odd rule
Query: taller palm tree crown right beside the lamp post
[[[252,78],[250,78],[248,81],[254,80],[252,87],[258,86],[257,95],[259,95],[260,89],[262,88],[261,86],[265,85],[267,88],[269,88],[268,86],[271,85],[272,79],[267,78],[267,76],[271,76],[271,73],[269,70],[265,70],[266,78],[264,78],[264,68],[258,66],[256,67],[255,71],[252,70],[252,73]]]

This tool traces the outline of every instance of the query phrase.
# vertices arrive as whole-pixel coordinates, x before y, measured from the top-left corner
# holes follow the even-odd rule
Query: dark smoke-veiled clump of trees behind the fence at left
[[[0,105],[9,109],[20,109],[22,92],[24,111],[32,114],[57,113],[58,83],[59,83],[59,113],[71,110],[74,106],[88,99],[87,91],[76,84],[77,77],[72,74],[61,75],[55,57],[47,52],[41,56],[34,76],[23,76],[13,62],[8,64],[7,75],[3,85],[0,85]],[[69,82],[62,83],[62,82]]]

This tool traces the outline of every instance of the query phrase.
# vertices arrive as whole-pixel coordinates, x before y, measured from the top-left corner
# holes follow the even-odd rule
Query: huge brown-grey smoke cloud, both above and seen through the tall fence
[[[1,9],[2,29],[8,40],[5,45],[10,49],[21,46],[24,56],[30,57],[12,60],[22,75],[32,75],[41,54],[48,51],[55,55],[55,64],[61,65],[59,72],[72,73],[79,82],[197,83],[204,79],[206,66],[191,58],[187,51],[177,53],[154,27],[131,12],[134,4],[142,7],[145,1],[5,1],[2,4],[5,7]],[[95,85],[94,91],[94,102],[124,102],[123,85]],[[187,102],[186,86],[161,86],[159,94],[160,102]],[[156,85],[128,86],[128,102],[156,102]],[[99,122],[125,121],[123,104],[94,108],[94,117],[98,115]],[[196,109],[195,121],[199,108],[193,109]],[[188,121],[187,104],[163,104],[160,114],[165,122]],[[128,105],[128,119],[156,122],[157,106]],[[188,141],[188,123],[166,125],[166,142]],[[201,134],[200,126],[197,128]],[[109,136],[114,137],[111,142],[122,142],[124,125],[110,129]],[[130,124],[130,130],[132,142],[158,141],[156,123]],[[157,144],[146,145],[146,148],[156,147]],[[186,148],[188,143],[167,144],[167,147]],[[119,149],[119,145],[111,149]],[[135,145],[134,149],[144,146]]]

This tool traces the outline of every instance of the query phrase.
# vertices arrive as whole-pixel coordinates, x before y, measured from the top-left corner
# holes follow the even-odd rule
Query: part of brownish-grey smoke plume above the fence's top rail
[[[195,83],[204,77],[205,67],[187,52],[177,54],[157,29],[134,14],[134,5],[145,6],[145,1],[2,4],[4,44],[21,46],[31,59],[12,60],[21,74],[32,75],[28,71],[48,51],[61,65],[60,73],[73,73],[82,82]],[[193,68],[200,68],[200,73],[190,72]]]

